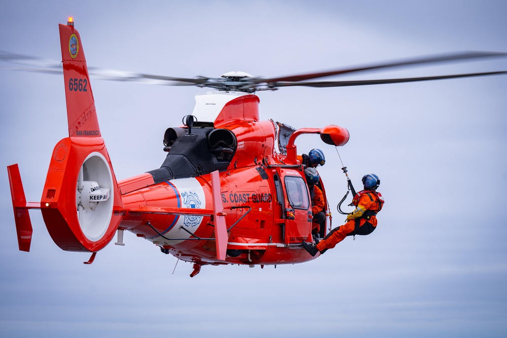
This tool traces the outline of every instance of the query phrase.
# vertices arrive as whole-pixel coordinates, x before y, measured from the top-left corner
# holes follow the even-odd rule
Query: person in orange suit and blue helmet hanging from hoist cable
[[[334,248],[347,236],[369,235],[377,227],[376,215],[384,205],[384,198],[377,192],[380,179],[375,174],[366,174],[362,181],[364,190],[354,196],[352,204],[356,208],[347,216],[347,222],[333,229],[322,241],[317,240],[316,245],[303,241],[303,247],[312,256],[315,256],[317,252],[323,254],[328,249]]]

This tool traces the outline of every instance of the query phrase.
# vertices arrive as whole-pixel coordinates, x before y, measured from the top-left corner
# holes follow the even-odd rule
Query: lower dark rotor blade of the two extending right
[[[292,87],[292,86],[305,86],[305,87],[350,87],[350,86],[368,86],[368,85],[384,85],[390,83],[404,83],[404,82],[417,82],[417,81],[429,81],[429,80],[444,80],[444,79],[456,79],[456,78],[470,78],[470,77],[481,77],[489,75],[501,75],[507,74],[507,71],[490,71],[481,73],[468,73],[468,74],[455,74],[455,75],[443,75],[435,77],[423,77],[423,78],[404,78],[404,79],[383,79],[383,80],[357,80],[357,81],[321,81],[321,82],[276,82],[276,87]],[[271,88],[270,88],[271,89]]]

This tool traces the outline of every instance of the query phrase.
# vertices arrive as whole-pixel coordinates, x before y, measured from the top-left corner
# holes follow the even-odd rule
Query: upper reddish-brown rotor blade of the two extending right
[[[382,68],[395,68],[395,67],[403,67],[408,65],[418,65],[418,64],[430,64],[430,63],[442,63],[442,62],[450,62],[450,61],[466,61],[472,59],[481,59],[481,58],[491,58],[491,57],[507,57],[507,53],[503,52],[460,52],[453,54],[445,54],[445,55],[437,55],[423,58],[415,58],[394,62],[386,62],[380,64],[372,64],[365,66],[358,66],[353,68],[346,69],[336,69],[329,71],[322,71],[317,73],[308,73],[308,74],[300,74],[294,76],[286,76],[279,78],[271,78],[271,79],[255,79],[255,83],[274,83],[274,82],[297,82],[297,81],[305,81],[323,77],[329,77],[333,75],[340,75],[345,73],[359,72],[365,70],[374,70],[374,69],[382,69]]]

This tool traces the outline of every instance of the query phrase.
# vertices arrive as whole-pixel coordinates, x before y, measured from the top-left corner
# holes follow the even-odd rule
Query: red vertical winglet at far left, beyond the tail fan
[[[28,209],[41,208],[41,203],[27,203],[21,175],[17,164],[7,167],[9,183],[11,186],[12,207],[14,209],[14,221],[16,222],[16,233],[20,251],[30,251],[32,237],[32,226]]]

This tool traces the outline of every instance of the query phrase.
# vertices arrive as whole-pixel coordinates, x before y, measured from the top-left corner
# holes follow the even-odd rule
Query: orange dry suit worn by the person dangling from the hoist
[[[374,190],[360,191],[354,196],[352,203],[356,208],[347,216],[347,222],[333,229],[317,244],[320,252],[334,248],[347,236],[369,235],[377,227],[377,213],[384,205],[384,198],[380,193]]]

